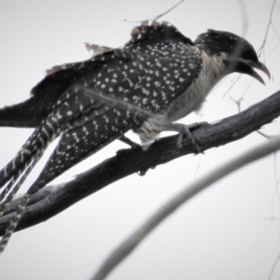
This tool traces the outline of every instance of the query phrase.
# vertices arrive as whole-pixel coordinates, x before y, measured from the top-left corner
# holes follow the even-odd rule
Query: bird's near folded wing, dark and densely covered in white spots
[[[76,96],[88,94],[93,104],[99,99],[98,106],[91,105],[89,112],[80,113],[64,130],[41,181],[50,181],[128,130],[139,127],[149,114],[165,111],[199,75],[200,52],[174,27],[137,27],[134,32],[137,38],[132,33],[132,40],[124,48],[94,59],[97,63],[106,61],[102,66],[94,69],[95,64],[85,64],[84,68],[90,71],[85,70],[74,84],[76,91],[79,88]],[[104,97],[109,98],[108,102]],[[87,106],[86,102],[80,105]]]

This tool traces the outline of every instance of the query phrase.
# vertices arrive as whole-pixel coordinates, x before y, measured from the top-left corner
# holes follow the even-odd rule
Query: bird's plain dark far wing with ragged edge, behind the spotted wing
[[[160,25],[153,22],[153,27],[140,26],[135,27],[131,33],[131,39],[126,44],[133,43],[159,43],[159,42],[178,42],[193,45],[189,38],[183,36],[178,29],[172,27],[167,22]],[[113,50],[102,45],[85,43],[87,50],[93,52],[93,57],[104,52]],[[121,51],[115,50],[117,54],[123,56]],[[128,52],[127,52],[128,53]],[[37,85],[31,89],[31,97],[25,102],[6,106],[0,109],[0,126],[9,127],[36,127],[42,120],[48,116],[53,104],[57,102],[58,97],[62,94],[73,79],[83,67],[89,67],[92,59],[85,62],[74,62],[52,66],[45,71],[46,76]]]

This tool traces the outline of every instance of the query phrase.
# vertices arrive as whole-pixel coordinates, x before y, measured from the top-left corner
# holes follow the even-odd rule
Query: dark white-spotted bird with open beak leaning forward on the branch
[[[48,145],[57,137],[59,141],[23,196],[0,241],[0,253],[31,195],[52,179],[129,130],[139,134],[144,150],[163,131],[191,137],[187,125],[174,122],[200,108],[230,73],[244,73],[265,84],[255,69],[270,78],[253,46],[241,36],[209,29],[192,41],[169,22],[157,21],[134,27],[120,48],[106,47],[83,62],[52,67],[31,90],[31,99],[14,107],[36,115],[27,123],[36,128],[0,171],[0,216]]]

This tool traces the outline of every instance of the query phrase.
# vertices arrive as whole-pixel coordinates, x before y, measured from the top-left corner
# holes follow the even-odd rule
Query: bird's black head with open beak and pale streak
[[[206,33],[200,34],[194,43],[207,52],[207,55],[223,57],[225,75],[234,72],[244,73],[265,84],[262,77],[255,71],[258,69],[270,78],[269,70],[258,60],[258,55],[251,43],[240,36],[227,31],[209,29]]]

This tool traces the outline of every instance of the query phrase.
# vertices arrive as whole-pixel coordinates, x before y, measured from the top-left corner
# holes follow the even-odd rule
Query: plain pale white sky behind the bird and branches
[[[83,42],[123,45],[135,25],[124,22],[124,18],[151,18],[175,3],[173,0],[0,0],[0,106],[27,99],[31,87],[50,66],[87,59]],[[248,20],[246,38],[258,50],[272,1],[244,3]],[[186,0],[161,20],[172,22],[192,39],[208,28],[239,35],[243,32],[237,0]],[[280,36],[279,1],[272,22]],[[279,37],[271,28],[266,55],[274,51],[266,64],[273,79],[266,79],[267,87],[253,81],[242,109],[280,89],[279,45]],[[192,114],[182,122],[211,122],[237,113],[230,96],[238,99],[251,78],[242,76],[222,99],[233,77],[213,90],[200,115]],[[0,167],[13,158],[31,131],[0,128]],[[262,132],[279,133],[279,121],[265,126]],[[1,255],[0,279],[89,279],[111,249],[169,197],[207,170],[263,141],[263,137],[253,133],[235,143],[206,151],[205,155],[188,155],[156,167],[144,177],[135,174],[78,202],[46,223],[16,233]],[[116,141],[62,179],[71,178],[124,147]],[[280,177],[279,166],[279,156],[276,160],[271,156],[216,183],[160,225],[109,279],[268,279],[280,253],[280,224],[262,218],[269,219],[272,214],[280,218],[275,179]],[[280,263],[272,279],[279,277]]]

